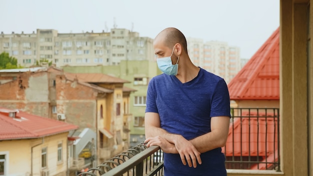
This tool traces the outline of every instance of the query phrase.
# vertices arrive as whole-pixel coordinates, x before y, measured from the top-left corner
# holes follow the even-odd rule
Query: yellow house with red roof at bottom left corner
[[[0,107],[0,175],[66,175],[68,132],[77,128]]]

